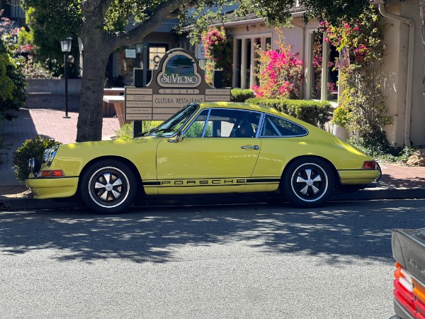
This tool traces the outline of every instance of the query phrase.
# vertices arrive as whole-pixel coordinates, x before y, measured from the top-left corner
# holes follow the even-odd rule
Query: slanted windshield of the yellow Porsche
[[[142,136],[173,136],[193,116],[198,108],[198,104],[188,104],[181,108],[174,116],[171,116],[171,118],[157,126],[157,128],[152,128],[152,130],[142,133]]]

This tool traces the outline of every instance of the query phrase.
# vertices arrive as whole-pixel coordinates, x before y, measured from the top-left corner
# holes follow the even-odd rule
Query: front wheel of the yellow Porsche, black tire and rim
[[[120,213],[137,193],[135,175],[115,159],[92,164],[81,177],[80,194],[88,208],[98,213]]]

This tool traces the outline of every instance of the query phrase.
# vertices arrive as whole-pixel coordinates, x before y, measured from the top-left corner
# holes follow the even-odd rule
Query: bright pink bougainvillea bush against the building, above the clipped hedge
[[[277,50],[256,50],[257,77],[260,86],[253,85],[256,96],[268,99],[297,99],[300,97],[302,60],[290,52],[290,45],[276,41]]]

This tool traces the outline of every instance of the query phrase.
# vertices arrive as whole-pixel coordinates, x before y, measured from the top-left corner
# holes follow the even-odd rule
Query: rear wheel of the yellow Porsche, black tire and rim
[[[334,173],[323,159],[303,157],[285,168],[282,186],[283,194],[294,206],[319,207],[334,191]]]

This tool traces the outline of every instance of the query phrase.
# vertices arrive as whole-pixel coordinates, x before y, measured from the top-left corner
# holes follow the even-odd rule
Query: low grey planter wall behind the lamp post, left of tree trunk
[[[27,79],[26,108],[65,108],[64,79]],[[68,79],[68,108],[79,109],[81,79]]]

